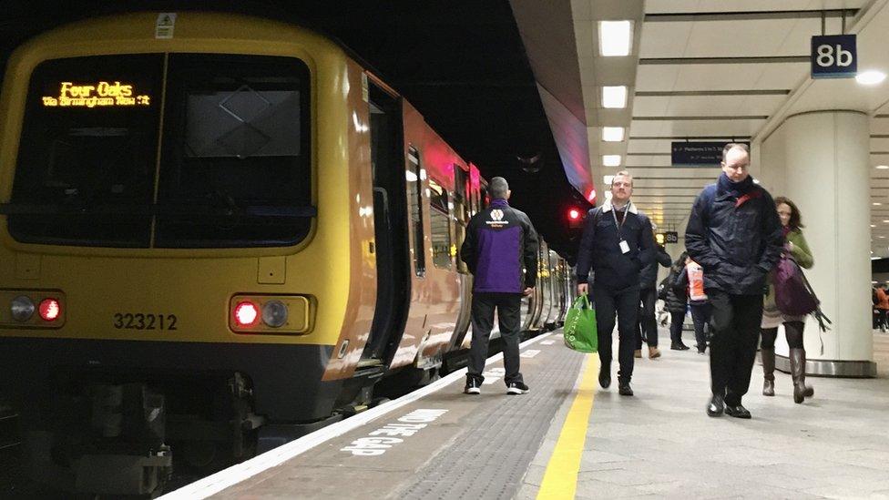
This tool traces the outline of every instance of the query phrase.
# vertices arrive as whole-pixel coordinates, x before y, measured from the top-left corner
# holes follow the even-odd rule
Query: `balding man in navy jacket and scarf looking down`
[[[750,150],[727,144],[722,174],[691,207],[685,246],[704,269],[704,291],[712,306],[710,390],[707,414],[751,418],[741,404],[762,321],[766,275],[781,257],[784,241],[775,202],[753,182]]]

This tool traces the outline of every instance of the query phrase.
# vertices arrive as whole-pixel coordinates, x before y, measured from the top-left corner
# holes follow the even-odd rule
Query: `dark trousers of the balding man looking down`
[[[708,290],[713,308],[710,340],[710,389],[725,403],[741,404],[750,388],[762,321],[762,295],[730,295]]]

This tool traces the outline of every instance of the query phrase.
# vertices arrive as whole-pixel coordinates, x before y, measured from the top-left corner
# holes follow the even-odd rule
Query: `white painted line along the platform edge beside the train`
[[[533,339],[522,342],[519,347],[525,348],[535,342],[546,339],[551,334],[552,333],[544,333],[538,335]],[[496,362],[501,359],[503,359],[503,352],[498,352],[488,358],[487,362]],[[426,394],[434,393],[443,387],[460,380],[465,374],[466,369],[461,368],[460,370],[450,373],[444,378],[439,379],[434,383],[430,383],[413,393],[404,394],[404,396],[398,399],[380,404],[366,412],[358,413],[341,422],[332,423],[312,434],[306,434],[299,439],[291,441],[288,444],[281,444],[281,446],[264,454],[254,456],[250,460],[241,462],[240,464],[232,465],[216,474],[208,475],[207,477],[199,479],[189,485],[182,486],[178,490],[171,491],[167,495],[160,496],[159,498],[163,500],[193,500],[215,495],[225,488],[237,485],[253,475],[260,474],[262,471],[271,469],[271,467],[283,464],[294,456],[303,454],[336,436],[348,433],[349,431],[361,427],[365,423],[372,422],[384,414],[397,410],[406,404],[414,403],[414,401],[422,398]]]

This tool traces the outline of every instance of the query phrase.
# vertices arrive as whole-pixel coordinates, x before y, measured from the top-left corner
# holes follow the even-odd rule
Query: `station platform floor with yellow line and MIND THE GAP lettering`
[[[875,334],[878,362],[887,340]],[[479,396],[456,372],[164,498],[889,498],[886,378],[812,378],[815,398],[794,404],[784,373],[760,394],[757,364],[743,421],[704,413],[708,357],[693,350],[636,360],[634,397],[585,390],[598,358],[557,333],[522,352],[528,394],[506,395],[489,362]]]

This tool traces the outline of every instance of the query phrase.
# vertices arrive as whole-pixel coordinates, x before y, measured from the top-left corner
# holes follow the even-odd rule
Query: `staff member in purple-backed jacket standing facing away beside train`
[[[537,233],[525,212],[506,203],[509,185],[496,177],[488,184],[491,204],[469,219],[460,259],[473,282],[473,340],[464,393],[481,393],[487,343],[494,328],[494,310],[504,342],[506,393],[524,394],[527,385],[519,372],[518,337],[522,330],[522,295],[534,291],[537,279]]]

